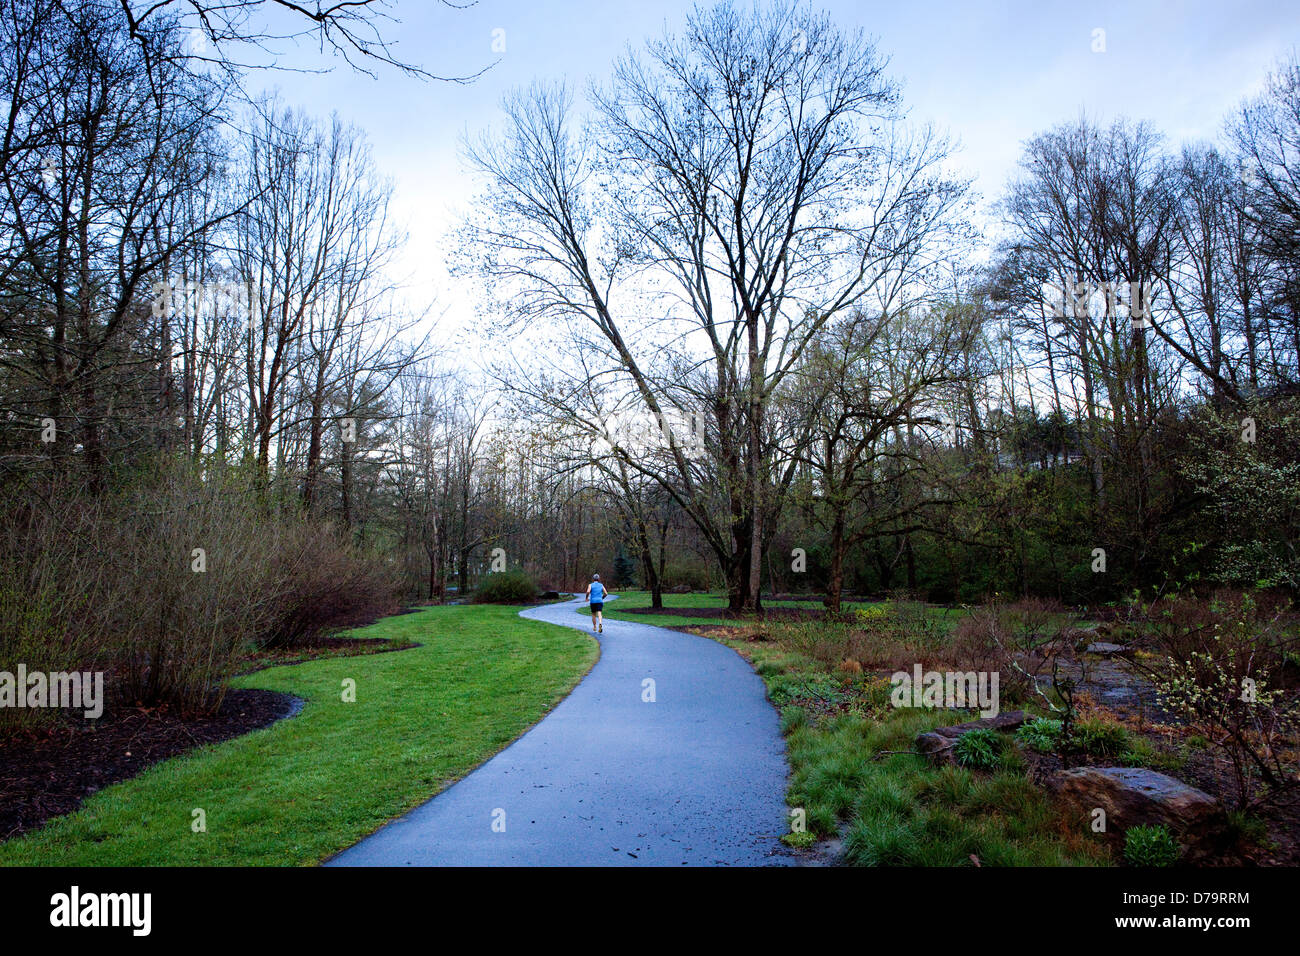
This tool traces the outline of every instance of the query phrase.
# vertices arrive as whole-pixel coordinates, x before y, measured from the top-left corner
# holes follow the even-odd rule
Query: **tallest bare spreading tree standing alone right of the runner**
[[[724,3],[620,61],[593,94],[595,130],[575,133],[567,91],[534,86],[507,99],[503,138],[468,148],[489,183],[472,268],[508,315],[568,320],[647,416],[708,419],[707,486],[671,434],[653,476],[734,610],[760,604],[788,485],[774,392],[836,315],[924,274],[961,202],[946,143],[898,122],[884,68],[824,16]]]

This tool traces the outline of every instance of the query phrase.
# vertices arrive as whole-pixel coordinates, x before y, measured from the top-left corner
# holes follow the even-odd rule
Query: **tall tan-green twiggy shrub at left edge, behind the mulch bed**
[[[60,485],[14,502],[0,528],[0,663],[103,670],[109,704],[220,706],[268,620],[259,519],[221,475],[173,464],[146,463],[117,493]]]

